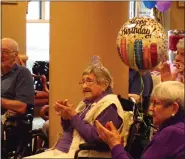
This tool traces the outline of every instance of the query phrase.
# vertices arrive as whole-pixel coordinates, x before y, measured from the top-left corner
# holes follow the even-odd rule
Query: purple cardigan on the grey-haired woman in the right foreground
[[[175,116],[166,121],[143,151],[143,159],[182,159],[185,158],[184,117]],[[112,151],[113,159],[131,159],[122,145]]]

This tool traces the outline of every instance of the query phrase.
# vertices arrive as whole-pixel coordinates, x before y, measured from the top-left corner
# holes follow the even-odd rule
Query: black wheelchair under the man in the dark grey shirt
[[[23,139],[28,138],[28,132],[32,129],[33,105],[27,106],[27,112],[24,115],[8,116],[3,127],[2,139],[2,158],[20,158],[20,149],[23,145]],[[27,146],[27,152],[31,141]],[[25,145],[24,145],[25,146]],[[21,152],[22,153],[22,152]]]

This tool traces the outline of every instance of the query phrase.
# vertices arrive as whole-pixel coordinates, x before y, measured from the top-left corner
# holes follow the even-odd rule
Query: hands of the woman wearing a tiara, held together
[[[74,105],[69,104],[67,99],[65,99],[63,102],[56,102],[55,109],[60,110],[61,112],[66,112],[68,119],[70,120],[72,119],[73,116],[77,114]]]

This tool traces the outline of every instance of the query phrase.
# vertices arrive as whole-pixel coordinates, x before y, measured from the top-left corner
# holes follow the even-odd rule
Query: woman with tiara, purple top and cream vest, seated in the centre
[[[117,95],[112,93],[112,77],[98,60],[93,61],[84,70],[79,84],[84,100],[76,109],[67,99],[54,104],[57,114],[61,116],[63,136],[53,149],[28,158],[74,158],[79,144],[102,142],[97,133],[95,120],[99,120],[102,125],[111,120],[117,129],[122,126],[124,112]],[[103,152],[85,153],[86,157],[111,156],[110,153]]]

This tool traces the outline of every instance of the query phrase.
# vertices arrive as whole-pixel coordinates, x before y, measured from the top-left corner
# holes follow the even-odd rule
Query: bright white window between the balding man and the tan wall
[[[30,1],[26,16],[27,67],[32,71],[35,61],[49,61],[49,1]]]

